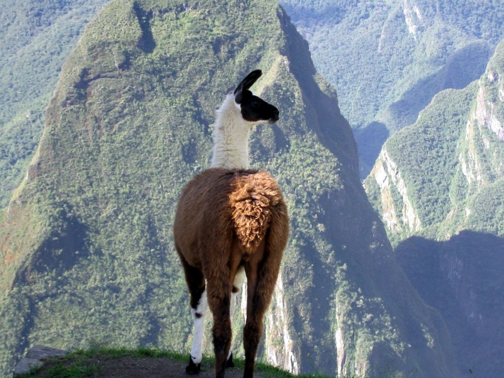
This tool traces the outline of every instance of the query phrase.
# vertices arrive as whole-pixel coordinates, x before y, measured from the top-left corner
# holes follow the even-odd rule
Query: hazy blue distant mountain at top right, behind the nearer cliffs
[[[361,177],[387,137],[415,122],[443,89],[465,88],[504,38],[498,0],[281,0],[340,96]]]

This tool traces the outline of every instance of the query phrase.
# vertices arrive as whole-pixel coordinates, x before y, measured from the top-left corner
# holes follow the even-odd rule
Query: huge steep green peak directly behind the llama
[[[280,121],[254,131],[251,161],[278,178],[291,218],[262,358],[293,372],[457,376],[446,324],[366,198],[336,92],[267,0],[114,0],[87,25],[0,217],[3,373],[33,344],[188,351],[175,206],[208,166],[215,109],[256,68]]]

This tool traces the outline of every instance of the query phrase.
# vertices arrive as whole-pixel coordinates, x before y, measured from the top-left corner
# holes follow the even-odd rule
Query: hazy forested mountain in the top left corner
[[[37,148],[61,65],[105,1],[27,0],[0,9],[0,207]]]

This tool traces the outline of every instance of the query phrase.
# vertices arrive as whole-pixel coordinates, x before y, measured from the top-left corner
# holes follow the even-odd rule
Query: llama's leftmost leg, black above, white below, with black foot
[[[187,286],[191,295],[191,316],[193,318],[193,347],[189,364],[185,371],[187,374],[197,374],[201,369],[203,356],[203,336],[205,333],[205,316],[207,313],[207,292],[203,273],[188,264],[183,264]]]

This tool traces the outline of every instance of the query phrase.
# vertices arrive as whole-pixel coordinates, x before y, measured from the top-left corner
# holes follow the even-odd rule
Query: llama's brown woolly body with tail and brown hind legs
[[[254,375],[264,313],[278,277],[288,223],[278,184],[266,172],[212,168],[197,175],[182,193],[175,216],[175,247],[192,308],[197,308],[207,291],[217,377],[224,376],[231,344],[230,298],[239,289],[233,288],[233,282],[242,267],[247,277],[243,376]]]

